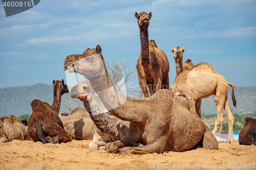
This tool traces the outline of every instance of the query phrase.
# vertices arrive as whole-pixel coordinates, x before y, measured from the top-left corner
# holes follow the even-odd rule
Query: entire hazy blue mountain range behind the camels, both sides
[[[237,108],[233,107],[231,100],[231,88],[228,90],[228,102],[233,113],[240,110],[256,112],[256,87],[235,86],[234,95],[237,99]],[[214,102],[215,95],[202,100],[201,110],[205,114],[216,114],[217,107]],[[30,103],[39,99],[52,105],[53,85],[35,84],[23,87],[8,87],[0,89],[0,117],[3,115],[16,115],[32,113]],[[61,98],[60,112],[70,113],[70,109],[83,107],[78,99],[71,99],[69,93],[63,94]],[[79,106],[80,105],[80,106]]]

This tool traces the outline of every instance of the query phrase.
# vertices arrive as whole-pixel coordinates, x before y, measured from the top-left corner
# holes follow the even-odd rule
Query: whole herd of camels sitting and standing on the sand
[[[16,116],[1,117],[0,142],[32,139],[42,143],[59,143],[72,139],[93,139],[90,149],[105,149],[119,154],[160,154],[197,147],[216,150],[218,141],[214,134],[223,122],[224,109],[229,127],[227,142],[230,143],[234,117],[229,108],[227,91],[231,86],[232,102],[236,106],[234,86],[209,64],[194,65],[191,60],[183,63],[184,47],[177,46],[172,48],[177,76],[169,89],[168,58],[154,40],[148,40],[151,16],[151,12],[135,13],[141,40],[136,67],[145,98],[131,98],[116,88],[106,69],[102,49],[97,45],[81,55],[69,55],[63,66],[65,71],[76,72],[87,80],[70,91],[63,80],[53,81],[52,106],[34,100],[27,129]],[[70,115],[59,116],[61,95],[68,92],[71,98],[79,99],[87,111],[76,108]],[[212,94],[215,94],[218,111],[215,128],[211,132],[201,119],[201,99]],[[101,102],[106,108],[104,111]],[[253,124],[255,127],[255,122],[250,123],[254,120],[246,121],[246,126]],[[241,133],[246,135],[249,131],[250,127],[247,127]],[[239,142],[256,144],[256,137],[248,140],[239,138]]]

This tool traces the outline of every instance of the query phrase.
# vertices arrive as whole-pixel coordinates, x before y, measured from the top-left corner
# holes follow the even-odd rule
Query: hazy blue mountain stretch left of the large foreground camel
[[[24,113],[32,113],[30,103],[39,99],[52,105],[53,85],[35,84],[23,87],[8,87],[0,89],[0,117],[3,115],[19,116]],[[76,101],[76,102],[75,102]],[[71,109],[79,106],[83,107],[78,99],[71,99],[69,93],[63,94],[61,98],[60,112],[70,113],[71,111],[63,105],[69,105]]]

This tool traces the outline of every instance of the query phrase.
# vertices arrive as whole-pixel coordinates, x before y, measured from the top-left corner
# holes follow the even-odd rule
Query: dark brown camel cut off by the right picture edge
[[[256,145],[256,119],[245,117],[244,127],[239,133],[239,144]]]

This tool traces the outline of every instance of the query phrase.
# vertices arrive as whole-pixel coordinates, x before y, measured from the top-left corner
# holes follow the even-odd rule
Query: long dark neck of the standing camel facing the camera
[[[148,29],[140,28],[141,64],[150,63],[150,52],[148,50]],[[144,67],[144,66],[143,66]]]

